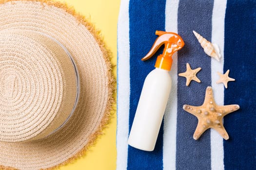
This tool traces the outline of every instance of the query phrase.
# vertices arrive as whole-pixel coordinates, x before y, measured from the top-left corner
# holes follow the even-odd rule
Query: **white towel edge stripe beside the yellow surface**
[[[117,170],[126,170],[130,103],[129,0],[121,0],[118,17]]]

